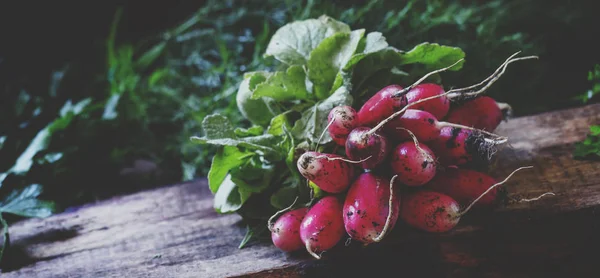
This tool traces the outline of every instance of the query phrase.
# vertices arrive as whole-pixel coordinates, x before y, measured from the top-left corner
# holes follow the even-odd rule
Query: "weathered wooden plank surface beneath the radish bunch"
[[[600,105],[513,119],[512,148],[490,170],[537,202],[473,212],[450,233],[397,226],[384,242],[340,244],[316,261],[269,242],[244,249],[236,215],[212,209],[204,180],[92,204],[11,226],[4,277],[600,277],[600,163],[575,161],[573,143],[600,123]],[[384,272],[385,271],[385,272]]]

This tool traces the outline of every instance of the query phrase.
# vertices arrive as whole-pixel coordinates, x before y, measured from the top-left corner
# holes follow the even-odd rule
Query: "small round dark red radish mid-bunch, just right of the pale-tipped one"
[[[364,169],[374,169],[381,164],[390,152],[387,138],[379,133],[370,133],[368,127],[357,127],[346,140],[346,156],[354,161],[362,161]]]

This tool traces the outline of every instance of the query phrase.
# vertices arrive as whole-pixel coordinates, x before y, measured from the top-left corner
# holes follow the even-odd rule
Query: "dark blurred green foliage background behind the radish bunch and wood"
[[[79,45],[60,45],[60,37],[48,35],[58,40],[55,50],[63,51],[61,60],[39,68],[34,65],[44,65],[53,52],[14,56],[0,48],[0,173],[10,172],[44,127],[61,123],[45,144],[34,146],[30,169],[12,172],[2,182],[0,200],[40,184],[44,191],[39,197],[62,210],[206,176],[216,150],[192,145],[190,136],[199,135],[202,119],[214,112],[235,126],[249,126],[235,104],[237,85],[244,72],[275,66],[262,53],[274,31],[292,20],[327,14],[354,29],[380,31],[390,45],[403,50],[424,41],[458,46],[466,52],[466,63],[444,76],[446,87],[481,80],[518,50],[539,55],[539,61],[511,66],[490,91],[509,102],[516,115],[579,105],[580,95],[590,88],[587,72],[600,61],[591,43],[597,34],[590,33],[598,31],[589,28],[595,24],[594,1],[230,0],[172,5],[168,18],[176,20],[152,18],[152,26],[136,32],[140,29],[132,28],[132,22],[142,12],[132,11],[143,7],[118,10],[105,4],[103,27],[89,30],[86,37],[93,38],[93,45],[70,56],[63,50]],[[65,41],[77,42],[76,33],[68,36]],[[69,101],[85,105],[61,115]]]

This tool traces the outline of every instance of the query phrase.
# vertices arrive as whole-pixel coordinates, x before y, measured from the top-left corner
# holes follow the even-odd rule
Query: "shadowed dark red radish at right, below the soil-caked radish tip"
[[[427,184],[433,191],[446,194],[461,205],[466,206],[492,185],[497,183],[494,178],[487,174],[470,169],[448,168],[439,171]],[[481,197],[475,206],[490,206],[494,204],[498,189],[494,188]]]

